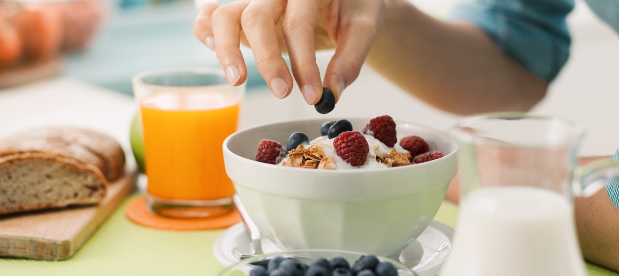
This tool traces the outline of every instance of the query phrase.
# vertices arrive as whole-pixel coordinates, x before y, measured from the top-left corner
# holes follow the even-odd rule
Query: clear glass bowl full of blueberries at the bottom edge
[[[219,276],[417,276],[400,262],[360,252],[305,249],[251,257]]]

